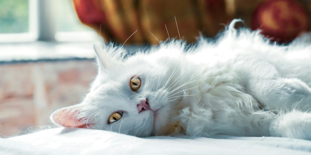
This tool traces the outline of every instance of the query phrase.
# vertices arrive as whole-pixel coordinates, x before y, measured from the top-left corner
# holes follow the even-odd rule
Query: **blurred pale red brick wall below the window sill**
[[[78,103],[95,75],[92,60],[0,65],[0,134],[52,125],[49,115]]]

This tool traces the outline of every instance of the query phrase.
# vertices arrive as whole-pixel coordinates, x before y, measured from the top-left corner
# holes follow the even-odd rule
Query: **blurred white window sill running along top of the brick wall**
[[[59,60],[92,60],[94,42],[0,43],[0,64]],[[142,46],[124,46],[131,53]]]

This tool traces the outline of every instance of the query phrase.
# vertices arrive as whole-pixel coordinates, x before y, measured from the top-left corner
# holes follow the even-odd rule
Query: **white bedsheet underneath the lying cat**
[[[311,154],[311,141],[277,137],[146,137],[109,131],[55,128],[0,138],[1,155],[36,154]]]

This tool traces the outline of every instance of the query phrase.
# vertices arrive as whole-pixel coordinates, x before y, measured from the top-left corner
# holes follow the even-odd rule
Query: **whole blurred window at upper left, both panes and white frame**
[[[0,42],[95,41],[71,0],[0,0]]]

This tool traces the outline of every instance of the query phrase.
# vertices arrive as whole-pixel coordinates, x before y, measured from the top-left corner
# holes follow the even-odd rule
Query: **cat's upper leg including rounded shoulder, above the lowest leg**
[[[262,107],[271,110],[311,109],[310,87],[298,78],[282,77],[267,61],[249,62],[248,66],[240,68],[240,73],[246,92]]]

